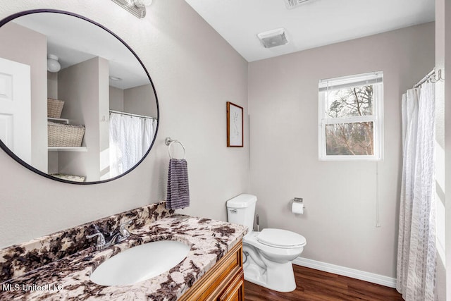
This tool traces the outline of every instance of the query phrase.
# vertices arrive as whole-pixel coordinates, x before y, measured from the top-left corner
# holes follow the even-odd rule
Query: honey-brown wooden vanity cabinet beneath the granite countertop
[[[242,270],[242,242],[239,242],[216,262],[199,281],[194,283],[179,300],[244,301],[244,275]]]

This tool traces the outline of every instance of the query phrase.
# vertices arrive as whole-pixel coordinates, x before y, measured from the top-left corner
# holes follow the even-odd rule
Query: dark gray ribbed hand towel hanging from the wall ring
[[[168,170],[167,209],[190,206],[190,187],[188,186],[188,166],[185,159],[171,159]]]

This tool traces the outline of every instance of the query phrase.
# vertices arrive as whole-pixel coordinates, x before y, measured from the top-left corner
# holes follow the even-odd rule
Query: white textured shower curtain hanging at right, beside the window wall
[[[402,95],[402,186],[397,290],[435,300],[435,85]]]

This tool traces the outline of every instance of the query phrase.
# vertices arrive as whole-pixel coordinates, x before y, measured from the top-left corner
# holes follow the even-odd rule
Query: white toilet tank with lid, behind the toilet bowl
[[[247,226],[247,233],[254,230],[255,195],[238,195],[227,201],[227,220]]]

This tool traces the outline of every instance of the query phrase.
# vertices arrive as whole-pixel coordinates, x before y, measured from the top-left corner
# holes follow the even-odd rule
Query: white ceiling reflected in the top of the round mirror
[[[132,52],[97,25],[62,13],[33,13],[13,22],[46,35],[47,52],[58,56],[62,69],[99,56],[109,62],[110,78],[120,78],[110,79],[111,86],[123,90],[149,84]]]

